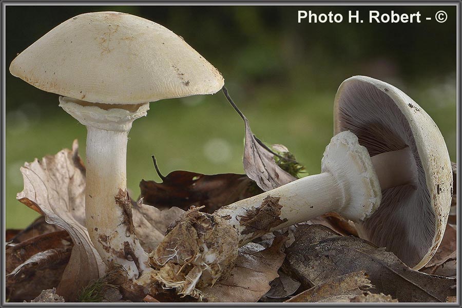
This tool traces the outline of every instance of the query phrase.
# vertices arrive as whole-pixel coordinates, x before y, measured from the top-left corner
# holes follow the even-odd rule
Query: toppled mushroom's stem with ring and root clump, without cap
[[[194,295],[196,283],[199,286],[213,283],[207,277],[218,279],[234,263],[232,256],[220,260],[210,258],[207,256],[209,247],[217,252],[233,252],[234,249],[237,252],[238,246],[254,238],[328,211],[337,211],[359,221],[371,215],[380,204],[380,184],[371,157],[351,131],[343,131],[331,139],[324,151],[321,170],[319,175],[298,179],[224,206],[213,215],[198,215],[197,209],[187,211],[180,221],[169,227],[164,240],[150,255],[151,264],[158,268],[156,279],[167,287],[177,287],[182,294]],[[219,229],[233,234],[234,238],[224,240],[223,236],[216,236]],[[207,230],[205,235],[204,230]],[[194,245],[188,242],[187,249],[182,249],[177,258],[169,257],[172,248],[178,247],[178,239],[189,238],[191,234],[197,234]],[[166,257],[169,259],[163,261]],[[185,266],[188,267],[181,273],[183,277],[179,274]],[[205,274],[200,278],[202,281],[190,283],[191,277],[198,277],[192,272],[194,268],[201,269],[200,275]],[[210,272],[210,268],[219,270]]]

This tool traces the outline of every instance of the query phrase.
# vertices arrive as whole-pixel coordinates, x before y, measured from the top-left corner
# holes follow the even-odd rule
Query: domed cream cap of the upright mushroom
[[[119,12],[70,18],[19,54],[10,72],[41,90],[105,104],[213,94],[224,83],[181,36]]]

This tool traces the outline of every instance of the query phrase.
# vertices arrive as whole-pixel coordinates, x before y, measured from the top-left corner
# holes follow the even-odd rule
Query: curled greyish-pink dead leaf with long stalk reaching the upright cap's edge
[[[264,191],[268,191],[296,180],[297,178],[281,169],[274,160],[275,153],[253,133],[245,115],[238,109],[233,100],[229,97],[228,90],[223,87],[223,93],[228,102],[240,115],[245,125],[244,145],[244,171],[245,174],[254,180]],[[284,157],[280,157],[284,159]]]

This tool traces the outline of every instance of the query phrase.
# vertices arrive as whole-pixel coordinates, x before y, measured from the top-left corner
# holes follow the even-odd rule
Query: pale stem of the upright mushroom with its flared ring
[[[127,139],[132,122],[146,115],[149,104],[122,105],[126,109],[96,105],[60,97],[60,106],[87,127],[86,225],[103,261],[123,265],[128,278],[137,279],[150,267],[131,217],[126,187]]]

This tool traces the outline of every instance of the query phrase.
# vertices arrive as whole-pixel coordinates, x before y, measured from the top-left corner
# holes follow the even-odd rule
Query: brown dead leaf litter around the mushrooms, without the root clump
[[[246,175],[174,171],[164,177],[154,160],[163,182],[142,181],[138,202],[131,200],[136,234],[148,252],[155,251],[184,209],[192,206],[213,213],[221,206],[296,180],[298,172],[303,171],[284,146],[273,145],[270,149],[255,137],[226,88],[223,92],[244,121]],[[454,165],[453,172],[456,172]],[[72,301],[92,290],[97,301],[102,300],[102,294],[110,298],[103,301],[123,300],[117,291],[120,282],[112,284],[114,280],[105,280],[107,268],[95,252],[85,228],[85,167],[76,141],[72,150],[64,149],[55,156],[26,163],[22,173],[25,185],[17,199],[43,217],[25,230],[10,230],[6,255],[9,299],[21,301],[32,300],[36,295],[40,297],[41,290],[27,285],[27,281],[49,279],[50,285],[43,284],[42,289],[47,289],[44,292],[48,292],[50,298],[59,294],[66,301]],[[205,207],[201,207],[203,205]],[[455,214],[455,210],[451,213]],[[455,223],[455,218],[453,221]],[[292,238],[289,240],[286,236]],[[57,241],[60,238],[62,241]],[[37,245],[31,245],[30,240],[36,240]],[[455,276],[455,240],[455,228],[448,224],[438,252],[418,272],[392,253],[357,238],[350,221],[336,213],[328,213],[278,233],[263,235],[239,248],[235,265],[230,266],[228,275],[213,286],[202,287],[199,299],[209,302],[455,301],[456,279],[448,278]],[[61,267],[50,266],[56,263]],[[31,272],[35,272],[34,277]],[[190,272],[194,273],[192,269]],[[24,280],[21,282],[21,287],[25,286],[23,293],[16,291],[18,279]],[[98,290],[98,282],[102,281],[107,285]],[[54,286],[57,291],[53,291]],[[113,294],[109,296],[108,292]],[[80,301],[86,300],[80,298]],[[167,289],[145,295],[144,301],[198,299],[181,298]]]

